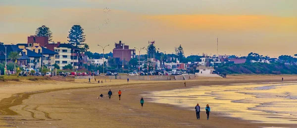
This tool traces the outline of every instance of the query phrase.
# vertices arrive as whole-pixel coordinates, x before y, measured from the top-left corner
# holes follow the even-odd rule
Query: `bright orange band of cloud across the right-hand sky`
[[[202,31],[297,32],[297,17],[260,15],[148,15],[166,26]]]

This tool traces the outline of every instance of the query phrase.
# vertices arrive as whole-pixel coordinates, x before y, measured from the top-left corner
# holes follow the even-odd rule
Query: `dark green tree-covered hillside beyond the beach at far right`
[[[215,68],[217,73],[227,74],[297,74],[297,65],[281,63],[230,64]]]

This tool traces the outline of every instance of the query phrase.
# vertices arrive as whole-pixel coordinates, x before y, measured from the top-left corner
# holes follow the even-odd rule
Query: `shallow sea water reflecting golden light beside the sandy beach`
[[[256,123],[297,124],[297,83],[234,84],[150,92],[152,102],[167,103],[194,111],[209,104],[222,116]]]

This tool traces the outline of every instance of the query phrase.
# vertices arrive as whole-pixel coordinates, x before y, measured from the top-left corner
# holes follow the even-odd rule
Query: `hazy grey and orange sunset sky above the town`
[[[70,28],[81,25],[91,52],[102,53],[98,44],[109,44],[110,52],[119,40],[130,48],[154,40],[167,54],[182,45],[186,56],[293,56],[296,5],[297,0],[0,0],[0,42],[27,43],[27,36],[46,25],[54,42],[67,43]]]

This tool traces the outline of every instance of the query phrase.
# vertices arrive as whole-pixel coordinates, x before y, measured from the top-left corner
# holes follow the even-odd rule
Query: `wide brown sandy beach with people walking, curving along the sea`
[[[43,80],[38,82],[1,83],[1,128],[263,128],[291,127],[295,124],[255,123],[230,118],[220,111],[212,111],[206,120],[204,111],[196,120],[195,110],[170,104],[153,103],[145,98],[144,108],[140,95],[152,91],[191,88],[196,86],[230,85],[254,82],[297,81],[294,75],[236,75],[228,78],[197,78],[186,81],[129,81],[106,80],[103,84]],[[111,89],[113,96],[108,99]],[[117,91],[122,91],[121,100]],[[98,99],[100,94],[103,99]],[[193,108],[196,102],[193,103]],[[200,105],[201,108],[204,105]]]

